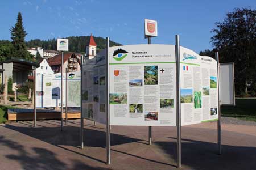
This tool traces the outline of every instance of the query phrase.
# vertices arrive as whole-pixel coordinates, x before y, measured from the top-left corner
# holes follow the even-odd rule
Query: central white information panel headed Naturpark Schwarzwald
[[[109,49],[110,125],[176,126],[174,45]]]

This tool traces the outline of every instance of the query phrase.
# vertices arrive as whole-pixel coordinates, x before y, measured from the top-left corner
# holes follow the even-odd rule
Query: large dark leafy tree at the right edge
[[[256,87],[256,10],[236,8],[212,32],[220,62],[234,62],[236,94],[247,92],[248,85]]]

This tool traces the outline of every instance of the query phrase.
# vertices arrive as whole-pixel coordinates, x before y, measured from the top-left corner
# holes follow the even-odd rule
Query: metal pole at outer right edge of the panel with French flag
[[[221,155],[221,101],[220,101],[220,62],[218,60],[218,52],[215,53],[215,58],[217,60],[217,74],[218,74],[218,154]]]

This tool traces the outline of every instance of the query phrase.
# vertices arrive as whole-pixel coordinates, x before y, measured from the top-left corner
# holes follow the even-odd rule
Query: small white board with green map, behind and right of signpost
[[[68,72],[67,76],[67,105],[68,107],[80,107],[80,71]]]

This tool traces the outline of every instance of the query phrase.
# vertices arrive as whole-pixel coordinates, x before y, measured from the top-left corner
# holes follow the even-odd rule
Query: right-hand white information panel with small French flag
[[[218,119],[217,61],[180,46],[181,125]]]

